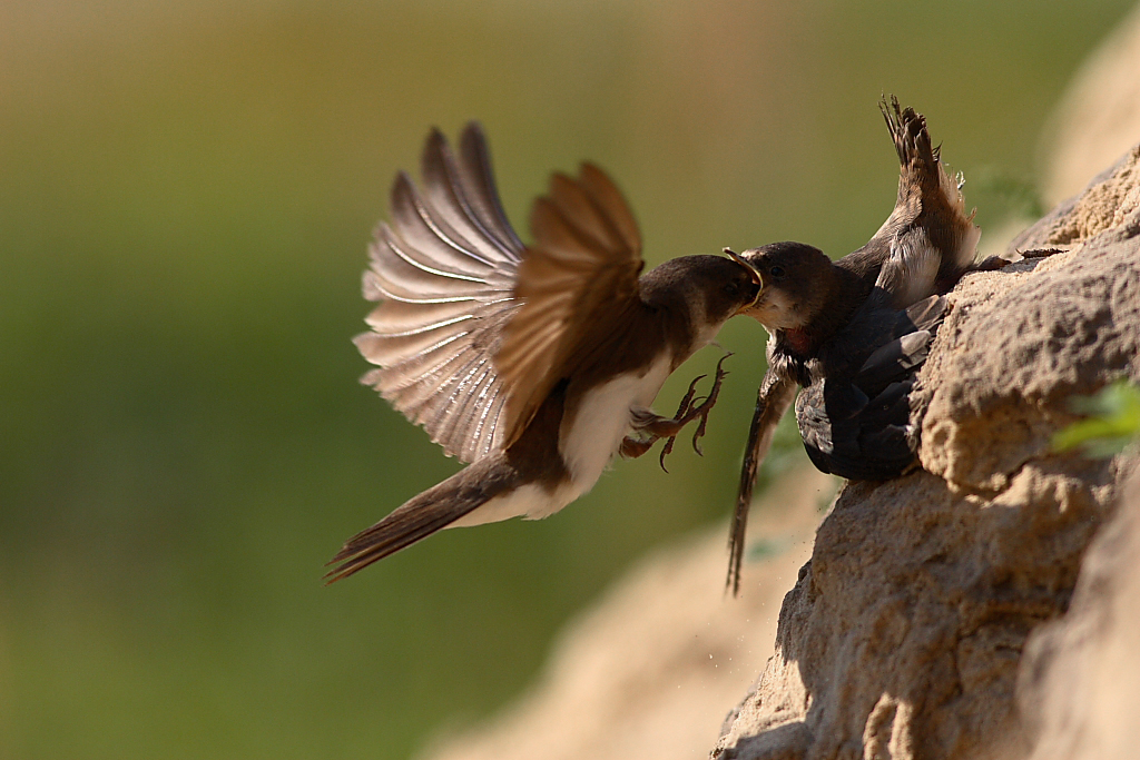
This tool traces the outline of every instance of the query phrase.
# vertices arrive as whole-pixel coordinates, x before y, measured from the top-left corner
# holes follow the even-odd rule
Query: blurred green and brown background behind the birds
[[[357,384],[349,342],[429,126],[482,120],[520,227],[591,158],[651,264],[842,254],[894,202],[894,92],[991,178],[967,201],[993,229],[1130,5],[0,2],[0,757],[405,758],[516,695],[638,554],[725,515],[755,324],[723,333],[703,459],[618,463],[551,520],[321,586],[456,468]]]

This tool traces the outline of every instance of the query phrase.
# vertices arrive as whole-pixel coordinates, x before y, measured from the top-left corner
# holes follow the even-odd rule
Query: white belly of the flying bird
[[[634,409],[648,409],[665,385],[671,357],[662,357],[644,374],[619,375],[588,391],[572,419],[563,418],[559,452],[570,481],[554,491],[523,485],[459,517],[448,528],[495,523],[511,517],[548,517],[588,491],[630,432]]]

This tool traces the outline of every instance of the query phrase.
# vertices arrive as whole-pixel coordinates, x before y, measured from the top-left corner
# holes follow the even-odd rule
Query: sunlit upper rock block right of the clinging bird
[[[1104,203],[1108,197],[1119,204]],[[928,472],[963,489],[1003,490],[1075,419],[1072,395],[1123,374],[1140,376],[1140,330],[1126,329],[1140,324],[1133,198],[1140,198],[1140,149],[1068,204],[1067,214],[1050,214],[1015,242],[1020,251],[1070,250],[971,275],[954,291],[914,397]]]

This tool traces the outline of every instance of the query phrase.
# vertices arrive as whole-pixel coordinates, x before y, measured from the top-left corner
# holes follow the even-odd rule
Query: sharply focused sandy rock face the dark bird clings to
[[[1023,651],[1134,465],[1050,439],[1072,395],[1140,378],[1140,149],[1013,247],[1034,258],[951,296],[914,394],[925,471],[840,493],[714,758],[1031,752]]]

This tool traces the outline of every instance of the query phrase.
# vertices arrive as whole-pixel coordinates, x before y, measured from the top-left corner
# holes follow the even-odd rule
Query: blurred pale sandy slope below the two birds
[[[767,554],[744,565],[731,604],[727,526],[654,553],[567,627],[529,695],[484,727],[439,738],[426,757],[707,757],[724,714],[772,653],[780,600],[836,483],[806,468],[765,493],[749,528],[754,548]]]

